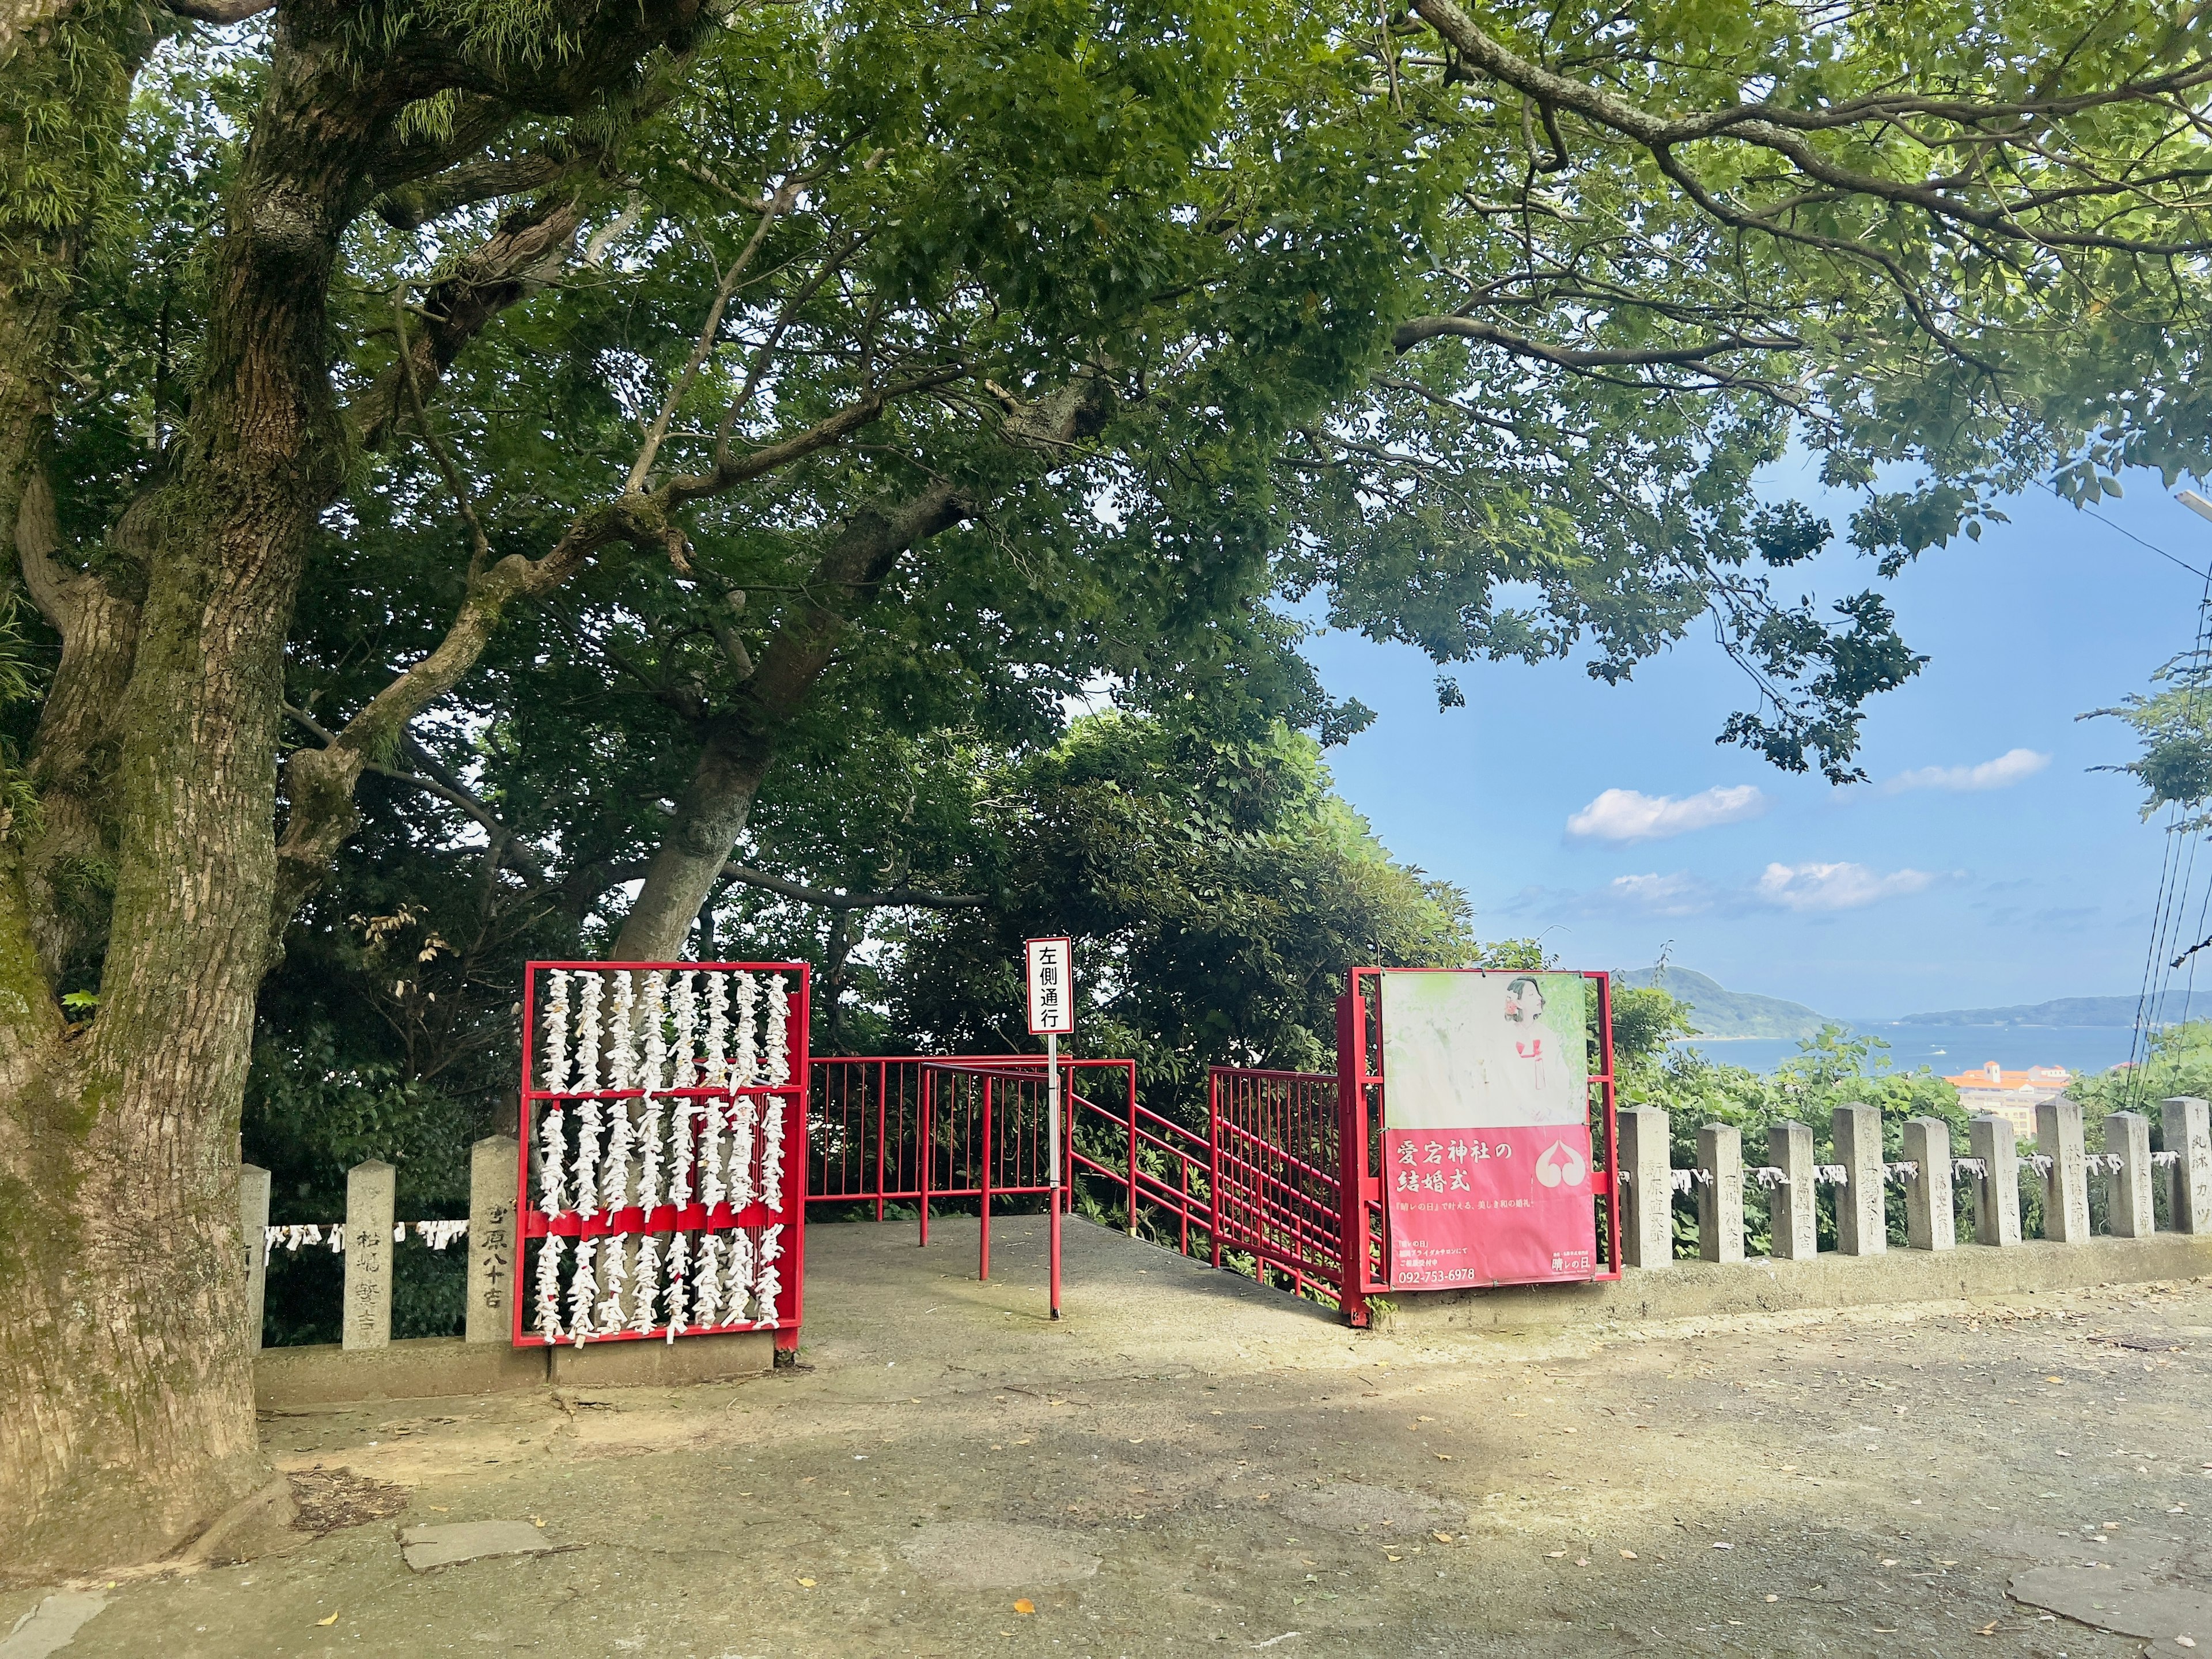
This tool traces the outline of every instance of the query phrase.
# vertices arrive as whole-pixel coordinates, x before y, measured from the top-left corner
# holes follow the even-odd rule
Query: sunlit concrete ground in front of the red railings
[[[62,1652],[2212,1650],[2212,1281],[1369,1336],[1071,1223],[1051,1325],[1042,1232],[975,1283],[973,1221],[810,1228],[748,1383],[270,1416],[398,1513],[102,1588]],[[476,1520],[549,1553],[403,1562]]]

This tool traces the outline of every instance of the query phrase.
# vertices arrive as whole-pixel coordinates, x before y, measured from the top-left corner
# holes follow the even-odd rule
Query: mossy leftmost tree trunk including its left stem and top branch
[[[482,100],[498,84],[482,53],[431,29],[363,64],[341,31],[312,35],[319,22],[274,24],[131,615],[38,546],[27,480],[44,409],[35,387],[0,380],[0,507],[64,635],[33,757],[55,816],[31,849],[0,834],[0,1573],[161,1555],[268,1478],[237,1128],[276,922],[283,648],[307,531],[345,476],[327,292],[347,223],[394,184],[396,113],[440,86]],[[577,106],[646,49],[681,44],[697,13],[628,2],[575,22],[577,53],[513,69],[509,117]],[[46,327],[24,301],[0,294],[0,343]],[[29,438],[11,451],[18,427]],[[64,852],[113,860],[88,1026],[58,1004]]]

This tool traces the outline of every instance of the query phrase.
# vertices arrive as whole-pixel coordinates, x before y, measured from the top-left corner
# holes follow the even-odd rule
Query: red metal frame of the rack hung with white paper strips
[[[646,973],[776,973],[787,975],[796,991],[790,993],[785,1011],[785,1053],[787,1053],[787,1075],[781,1084],[748,1082],[748,1084],[714,1084],[708,1082],[708,1073],[728,1062],[730,1055],[684,1055],[670,1057],[675,1064],[675,1079],[690,1075],[692,1082],[677,1082],[670,1088],[653,1088],[655,1099],[666,1102],[783,1102],[781,1121],[781,1194],[779,1203],[768,1206],[752,1197],[743,1208],[734,1208],[728,1199],[714,1203],[712,1208],[692,1194],[690,1203],[681,1208],[675,1203],[657,1203],[650,1210],[639,1206],[624,1208],[593,1208],[564,1210],[560,1214],[546,1214],[540,1208],[540,1190],[533,1177],[533,1159],[540,1152],[540,1130],[542,1115],[546,1110],[566,1110],[568,1106],[582,1106],[586,1102],[604,1102],[624,1106],[637,1102],[646,1095],[644,1086],[628,1088],[540,1088],[538,1062],[540,1062],[540,1009],[538,1009],[538,984],[544,973],[597,973],[613,980],[615,975],[646,975]],[[807,1057],[807,1006],[812,975],[805,962],[529,962],[524,969],[522,989],[522,1108],[520,1108],[520,1166],[518,1166],[518,1217],[520,1217],[520,1250],[515,1250],[515,1296],[513,1296],[513,1343],[515,1347],[544,1347],[549,1338],[535,1329],[526,1329],[526,1312],[535,1307],[533,1290],[533,1250],[544,1250],[544,1239],[575,1239],[577,1243],[595,1241],[604,1237],[630,1237],[650,1234],[655,1239],[672,1239],[675,1234],[719,1234],[730,1237],[732,1232],[754,1232],[763,1237],[765,1230],[779,1228],[781,1250],[779,1250],[779,1283],[774,1296],[772,1316],[763,1318],[739,1318],[714,1325],[684,1325],[677,1336],[708,1336],[717,1332],[741,1332],[741,1329],[774,1329],[779,1349],[799,1347],[799,1323],[803,1307],[805,1287],[805,1201],[807,1201],[807,1079],[810,1079],[810,1057]],[[763,1033],[765,1035],[765,1033]],[[695,1135],[697,1144],[697,1135]],[[765,1150],[765,1148],[757,1148]],[[668,1338],[668,1327],[657,1325],[646,1332],[637,1329],[608,1329],[591,1332],[582,1340],[586,1343],[624,1343],[639,1338]],[[562,1336],[560,1340],[575,1340]]]

